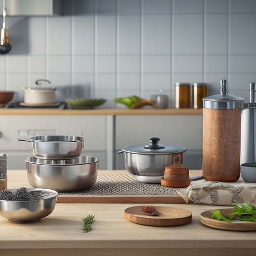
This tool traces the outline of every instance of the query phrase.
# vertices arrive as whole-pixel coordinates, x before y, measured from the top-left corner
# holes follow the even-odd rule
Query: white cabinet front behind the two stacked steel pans
[[[26,169],[32,143],[18,141],[18,135],[55,130],[58,135],[83,136],[82,154],[99,158],[99,169],[107,169],[106,120],[105,115],[0,115],[0,152],[7,154],[8,169]]]

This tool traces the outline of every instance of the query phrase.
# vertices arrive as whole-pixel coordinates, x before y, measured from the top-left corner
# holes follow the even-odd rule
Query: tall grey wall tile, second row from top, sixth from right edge
[[[116,16],[97,16],[97,54],[116,54]]]

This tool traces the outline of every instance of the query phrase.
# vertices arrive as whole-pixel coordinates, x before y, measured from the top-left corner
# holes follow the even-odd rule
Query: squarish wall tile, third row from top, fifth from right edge
[[[140,73],[140,56],[119,56],[119,73]]]

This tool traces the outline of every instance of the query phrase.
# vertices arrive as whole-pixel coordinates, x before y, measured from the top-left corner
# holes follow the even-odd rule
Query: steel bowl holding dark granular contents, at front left
[[[7,189],[12,193],[16,189]],[[0,200],[0,215],[10,222],[34,222],[48,216],[54,209],[58,193],[51,189],[27,188],[36,200]]]

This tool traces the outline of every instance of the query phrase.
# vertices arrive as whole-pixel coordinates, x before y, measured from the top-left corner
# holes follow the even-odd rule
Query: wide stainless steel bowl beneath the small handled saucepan
[[[85,190],[98,176],[98,158],[81,156],[69,160],[46,160],[34,156],[25,159],[27,179],[37,188],[56,191]]]

